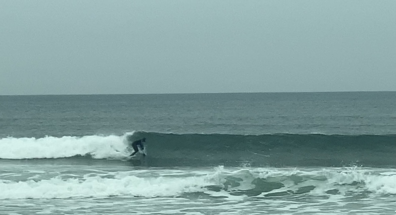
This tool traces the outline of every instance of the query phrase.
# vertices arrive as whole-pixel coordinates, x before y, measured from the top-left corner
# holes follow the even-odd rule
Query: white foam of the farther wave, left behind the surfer
[[[125,135],[1,138],[0,158],[60,158],[76,155],[91,155],[93,158],[120,158],[128,155]]]

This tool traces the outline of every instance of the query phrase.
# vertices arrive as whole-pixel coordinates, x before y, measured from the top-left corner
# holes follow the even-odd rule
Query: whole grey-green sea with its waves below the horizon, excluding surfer
[[[0,96],[0,167],[0,214],[395,214],[396,92]]]

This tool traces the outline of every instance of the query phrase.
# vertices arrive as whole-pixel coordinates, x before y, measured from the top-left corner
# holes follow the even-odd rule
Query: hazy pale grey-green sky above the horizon
[[[0,95],[396,91],[396,1],[0,1]]]

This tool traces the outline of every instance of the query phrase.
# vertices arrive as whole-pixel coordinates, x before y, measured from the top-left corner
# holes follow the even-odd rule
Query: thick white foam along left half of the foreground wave
[[[62,179],[55,177],[40,181],[13,182],[0,180],[0,199],[25,198],[74,198],[107,196],[177,196],[182,193],[206,190],[204,187],[213,182],[206,176],[201,177],[150,177],[136,176],[84,179]]]

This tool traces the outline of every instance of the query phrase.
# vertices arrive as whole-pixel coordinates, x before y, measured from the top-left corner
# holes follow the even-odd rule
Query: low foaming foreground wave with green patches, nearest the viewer
[[[160,169],[130,172],[91,171],[76,177],[67,171],[40,179],[40,173],[25,180],[0,179],[0,199],[53,199],[86,197],[298,197],[301,195],[352,196],[394,195],[396,175],[380,169],[274,169],[213,170],[188,174]],[[188,171],[187,171],[188,172]],[[25,173],[26,174],[26,173]],[[51,173],[47,173],[51,174]],[[19,174],[20,175],[20,174]],[[20,176],[19,176],[20,177]],[[327,201],[327,199],[325,200]]]

